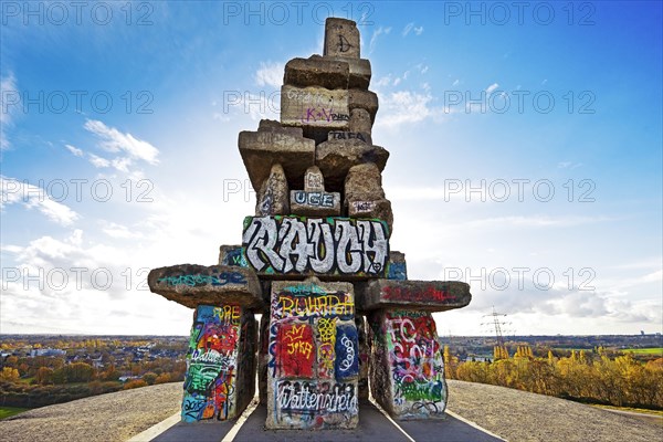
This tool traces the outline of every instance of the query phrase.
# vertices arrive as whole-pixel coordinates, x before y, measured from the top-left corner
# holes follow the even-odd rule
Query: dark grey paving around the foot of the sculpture
[[[359,407],[359,427],[355,430],[277,430],[264,429],[267,409],[259,406],[249,415],[232,439],[233,441],[376,441],[376,442],[409,442],[409,441],[472,441],[496,442],[494,438],[480,429],[470,425],[452,415],[444,420],[398,422],[398,427],[372,403],[365,402]],[[169,428],[154,442],[220,442],[234,422],[204,422],[196,424],[177,423]],[[399,429],[400,427],[400,429]],[[236,429],[235,429],[236,430]],[[229,440],[227,438],[225,440]]]

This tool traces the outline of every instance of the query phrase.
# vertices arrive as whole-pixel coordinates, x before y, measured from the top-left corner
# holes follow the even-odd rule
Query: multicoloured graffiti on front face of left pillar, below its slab
[[[191,328],[182,421],[232,417],[241,308],[200,305]]]

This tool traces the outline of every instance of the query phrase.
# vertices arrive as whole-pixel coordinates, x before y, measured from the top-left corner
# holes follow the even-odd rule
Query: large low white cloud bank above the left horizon
[[[123,248],[86,243],[81,230],[12,250],[15,265],[2,272],[3,333],[186,334],[190,311],[149,293],[135,250],[129,260]]]

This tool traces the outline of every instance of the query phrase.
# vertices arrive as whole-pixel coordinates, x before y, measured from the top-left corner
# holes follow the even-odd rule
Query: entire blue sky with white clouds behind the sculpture
[[[330,14],[371,61],[392,250],[472,285],[439,333],[493,306],[515,334],[662,332],[660,2],[1,7],[0,333],[187,334],[146,269],[241,241],[238,134]]]

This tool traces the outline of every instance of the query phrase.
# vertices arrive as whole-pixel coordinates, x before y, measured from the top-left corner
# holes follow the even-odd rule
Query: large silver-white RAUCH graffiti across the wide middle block
[[[388,238],[379,220],[248,217],[242,246],[249,264],[263,274],[382,276]]]

